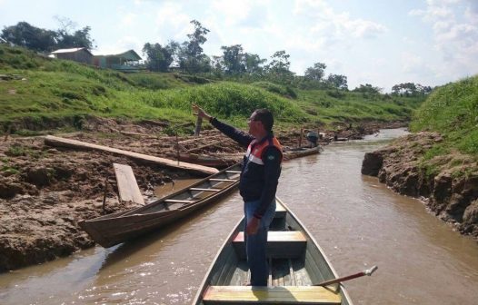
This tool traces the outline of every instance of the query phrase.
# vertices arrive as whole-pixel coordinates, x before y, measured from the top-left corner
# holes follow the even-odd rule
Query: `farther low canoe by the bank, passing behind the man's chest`
[[[320,153],[322,150],[321,146],[286,148],[284,149],[284,161]],[[244,153],[179,153],[179,161],[222,168],[240,162],[243,156]]]

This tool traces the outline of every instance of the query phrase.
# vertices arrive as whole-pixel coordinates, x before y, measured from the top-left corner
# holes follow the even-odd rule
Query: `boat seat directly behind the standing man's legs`
[[[300,257],[305,250],[307,239],[301,231],[269,231],[266,255],[271,258],[292,259]],[[239,258],[245,258],[244,231],[234,237],[233,245]]]

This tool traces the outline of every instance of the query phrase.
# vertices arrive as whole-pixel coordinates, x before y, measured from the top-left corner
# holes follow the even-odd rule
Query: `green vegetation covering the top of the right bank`
[[[436,88],[414,113],[410,129],[443,136],[422,156],[427,174],[478,174],[478,75]]]

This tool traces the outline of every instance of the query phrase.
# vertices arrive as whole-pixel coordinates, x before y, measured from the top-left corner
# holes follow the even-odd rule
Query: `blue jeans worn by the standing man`
[[[251,271],[252,286],[267,286],[267,278],[269,277],[269,266],[267,264],[267,258],[265,257],[265,247],[267,245],[267,231],[269,231],[269,225],[274,219],[275,198],[264,213],[257,233],[247,235],[245,232],[247,222],[254,217],[254,212],[260,203],[259,201],[244,202],[245,255],[247,257],[249,270]]]

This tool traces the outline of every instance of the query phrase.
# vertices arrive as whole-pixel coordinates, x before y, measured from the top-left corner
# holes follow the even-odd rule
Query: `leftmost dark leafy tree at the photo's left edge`
[[[16,25],[5,27],[1,37],[10,44],[24,46],[39,52],[50,52],[55,48],[57,34],[55,31],[19,22]]]

